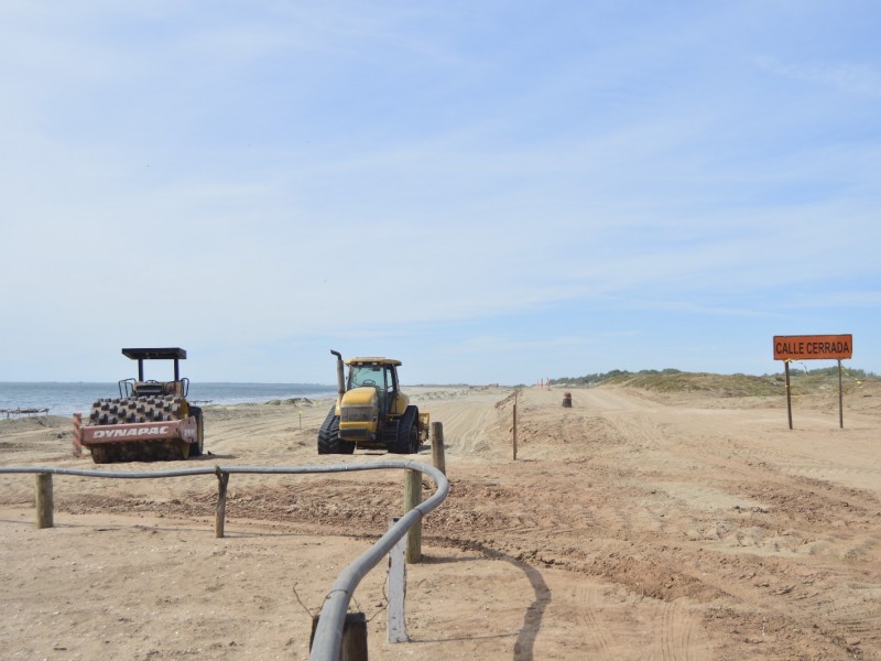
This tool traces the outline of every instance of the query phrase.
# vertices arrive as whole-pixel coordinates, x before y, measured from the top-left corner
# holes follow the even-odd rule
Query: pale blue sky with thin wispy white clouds
[[[0,8],[0,380],[881,372],[881,7]],[[827,367],[814,362],[807,367]]]

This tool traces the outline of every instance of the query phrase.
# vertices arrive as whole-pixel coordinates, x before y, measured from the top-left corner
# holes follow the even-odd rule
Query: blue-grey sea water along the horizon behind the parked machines
[[[319,399],[335,394],[336,386],[319,383],[191,383],[187,401],[204,407]],[[48,409],[50,415],[87,414],[95,400],[111,397],[119,397],[118,383],[0,381],[0,411]]]

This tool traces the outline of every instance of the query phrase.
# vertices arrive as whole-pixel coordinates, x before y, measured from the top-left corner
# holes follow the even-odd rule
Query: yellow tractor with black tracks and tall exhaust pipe
[[[400,360],[337,357],[337,401],[318,430],[318,454],[356,447],[414,454],[428,440],[427,413],[410,403],[398,381]],[[346,378],[344,366],[348,366]]]

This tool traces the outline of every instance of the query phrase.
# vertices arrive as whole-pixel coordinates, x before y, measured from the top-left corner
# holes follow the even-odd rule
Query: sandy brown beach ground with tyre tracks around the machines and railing
[[[385,641],[385,572],[352,607],[371,659],[881,659],[881,388],[794,402],[623,387],[407,389],[444,425],[452,492],[407,566],[411,641]],[[208,407],[206,455],[119,464],[294,466],[331,400]],[[66,418],[0,421],[0,464],[95,468]],[[398,458],[395,456],[395,458]],[[431,463],[423,446],[420,460]],[[431,483],[424,485],[425,494]],[[400,472],[0,476],[7,659],[306,659],[312,614],[403,507]]]

